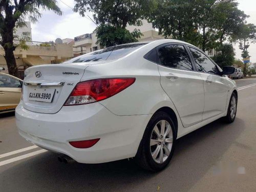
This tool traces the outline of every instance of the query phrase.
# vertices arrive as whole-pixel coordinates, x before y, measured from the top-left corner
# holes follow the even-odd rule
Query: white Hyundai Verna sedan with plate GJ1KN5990
[[[109,47],[27,69],[16,124],[28,141],[80,163],[134,158],[158,171],[178,138],[234,121],[233,72],[183,41]]]

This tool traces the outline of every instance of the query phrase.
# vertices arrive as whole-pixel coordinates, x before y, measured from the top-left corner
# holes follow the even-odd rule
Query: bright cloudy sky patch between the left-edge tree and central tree
[[[54,41],[56,38],[74,38],[82,34],[92,33],[96,28],[96,25],[89,18],[73,12],[72,8],[75,5],[73,0],[57,0],[57,2],[62,15],[59,16],[51,11],[42,11],[42,16],[38,22],[31,24],[33,41],[44,42]],[[91,13],[88,14],[91,15]]]

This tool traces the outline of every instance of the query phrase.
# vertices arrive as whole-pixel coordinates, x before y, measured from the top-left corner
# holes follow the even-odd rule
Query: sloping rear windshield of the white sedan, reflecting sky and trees
[[[75,57],[73,59],[70,59],[63,63],[73,63],[73,62],[90,62],[90,61],[101,61],[101,60],[113,60],[113,59],[119,59],[121,57],[124,57],[125,55],[131,53],[132,51],[140,48],[143,45],[146,45],[147,43],[142,44],[126,44],[126,45],[120,45],[120,46],[113,46],[108,47],[105,49],[101,49],[98,51],[94,51],[91,53],[84,54],[79,57]]]

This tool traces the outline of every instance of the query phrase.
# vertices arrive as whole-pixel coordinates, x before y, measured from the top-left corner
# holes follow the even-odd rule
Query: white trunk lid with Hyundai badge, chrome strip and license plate
[[[72,63],[28,68],[23,86],[24,108],[38,113],[57,113],[89,65]]]

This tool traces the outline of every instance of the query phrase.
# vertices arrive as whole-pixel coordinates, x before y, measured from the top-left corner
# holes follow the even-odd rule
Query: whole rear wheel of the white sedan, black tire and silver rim
[[[164,169],[172,159],[176,137],[172,118],[165,112],[157,112],[146,126],[135,161],[153,172]]]

